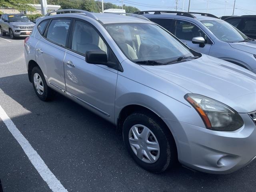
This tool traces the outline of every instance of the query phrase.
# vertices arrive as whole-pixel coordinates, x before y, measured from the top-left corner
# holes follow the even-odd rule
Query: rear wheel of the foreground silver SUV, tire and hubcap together
[[[37,96],[42,101],[52,100],[54,98],[54,90],[47,86],[44,74],[38,66],[32,69],[32,84]]]

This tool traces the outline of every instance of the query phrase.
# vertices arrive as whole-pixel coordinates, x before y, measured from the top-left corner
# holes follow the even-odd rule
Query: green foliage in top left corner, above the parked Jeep
[[[35,11],[36,9],[28,3],[30,3],[30,0],[0,0],[0,7],[15,8],[19,11]]]

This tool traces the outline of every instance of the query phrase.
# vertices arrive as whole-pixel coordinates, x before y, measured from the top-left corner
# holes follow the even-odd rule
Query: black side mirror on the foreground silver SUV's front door
[[[85,61],[90,64],[100,64],[108,66],[108,56],[102,50],[86,51]]]

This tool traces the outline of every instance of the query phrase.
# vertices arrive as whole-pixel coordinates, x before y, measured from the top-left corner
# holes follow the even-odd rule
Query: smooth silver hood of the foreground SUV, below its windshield
[[[239,113],[256,110],[256,75],[230,62],[203,55],[187,62],[142,67],[188,92],[218,100]],[[184,98],[180,101],[184,102]]]

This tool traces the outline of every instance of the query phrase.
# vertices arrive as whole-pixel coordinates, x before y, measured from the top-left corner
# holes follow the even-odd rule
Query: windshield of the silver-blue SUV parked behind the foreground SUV
[[[223,20],[207,20],[202,23],[221,41],[240,42],[250,40],[245,34]]]

